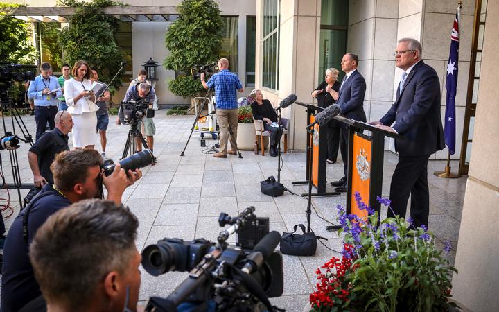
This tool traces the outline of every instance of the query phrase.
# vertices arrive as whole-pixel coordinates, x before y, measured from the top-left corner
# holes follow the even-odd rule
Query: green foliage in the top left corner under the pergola
[[[34,64],[36,51],[28,40],[29,24],[7,15],[14,3],[0,3],[0,61]]]

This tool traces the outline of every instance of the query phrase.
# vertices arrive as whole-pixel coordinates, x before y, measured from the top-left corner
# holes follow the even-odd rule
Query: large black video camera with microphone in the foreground
[[[268,298],[283,293],[282,255],[274,251],[281,235],[270,232],[252,250],[226,243],[256,218],[254,210],[248,207],[233,218],[234,224],[220,232],[218,243],[165,238],[144,248],[142,266],[150,275],[189,271],[168,297],[150,297],[146,311],[177,311],[179,305],[193,304],[196,311],[209,310],[209,304],[211,311],[280,311]]]

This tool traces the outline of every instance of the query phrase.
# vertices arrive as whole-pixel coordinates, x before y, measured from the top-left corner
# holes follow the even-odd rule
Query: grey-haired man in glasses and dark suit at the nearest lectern
[[[402,38],[394,55],[396,67],[404,71],[396,101],[380,121],[371,123],[405,137],[395,141],[399,162],[392,176],[392,210],[388,209],[387,216],[405,218],[411,195],[410,216],[414,227],[428,226],[428,158],[445,147],[440,82],[435,70],[421,60],[421,44],[417,40]]]

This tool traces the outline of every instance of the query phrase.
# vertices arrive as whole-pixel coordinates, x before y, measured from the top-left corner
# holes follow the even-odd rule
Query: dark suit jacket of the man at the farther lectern
[[[347,81],[341,86],[336,104],[341,107],[341,114],[356,121],[366,121],[364,112],[365,80],[358,72],[353,71]],[[342,128],[347,125],[341,123]]]

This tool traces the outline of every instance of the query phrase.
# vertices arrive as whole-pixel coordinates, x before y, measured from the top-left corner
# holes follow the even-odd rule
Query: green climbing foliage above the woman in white
[[[60,6],[78,8],[75,15],[69,17],[69,26],[62,30],[58,43],[64,50],[64,62],[72,66],[78,60],[85,60],[91,67],[96,67],[99,80],[109,82],[123,60],[114,37],[119,30],[118,20],[103,14],[105,6],[123,6],[110,0],[62,0]],[[110,86],[110,92],[121,86],[119,75]]]

